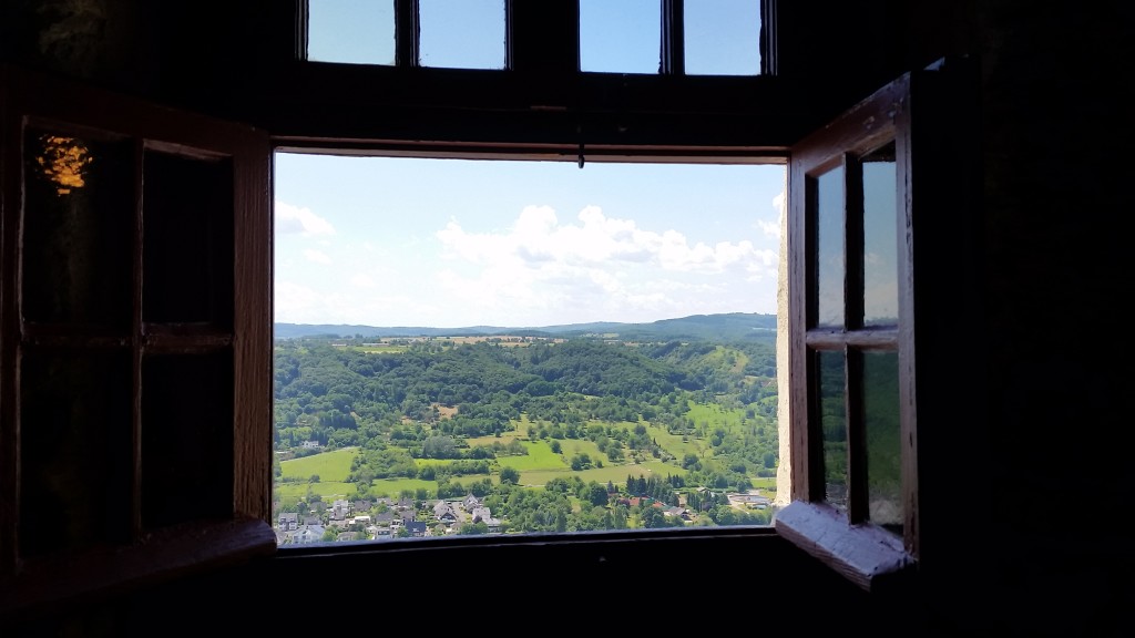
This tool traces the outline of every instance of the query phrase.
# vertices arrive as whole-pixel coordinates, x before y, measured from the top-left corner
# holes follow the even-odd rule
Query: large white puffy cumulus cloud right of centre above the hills
[[[451,220],[437,238],[451,262],[437,283],[463,308],[508,308],[516,317],[557,309],[564,322],[585,312],[657,319],[729,311],[753,294],[742,285],[775,282],[777,266],[776,251],[749,240],[691,242],[594,205],[570,223],[549,207],[529,205],[496,233],[469,232]],[[693,308],[707,299],[721,308]]]

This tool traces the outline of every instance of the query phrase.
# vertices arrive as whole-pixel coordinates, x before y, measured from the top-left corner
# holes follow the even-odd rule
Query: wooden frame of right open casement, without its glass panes
[[[938,560],[940,545],[927,543],[928,520],[938,537],[947,532],[950,504],[944,498],[948,479],[942,465],[919,463],[919,442],[932,439],[938,452],[962,448],[964,434],[950,422],[957,411],[948,396],[951,373],[959,370],[959,353],[947,352],[919,331],[916,322],[933,326],[943,317],[962,317],[977,307],[966,285],[977,271],[976,260],[959,269],[956,280],[938,272],[941,263],[965,249],[972,238],[958,238],[951,224],[965,227],[978,210],[974,134],[977,112],[972,60],[941,60],[905,74],[829,126],[805,137],[792,149],[789,190],[789,419],[791,423],[792,503],[777,513],[777,532],[842,573],[860,588],[875,591],[902,588]],[[810,294],[818,286],[813,267],[817,237],[809,227],[813,176],[842,165],[846,216],[863,215],[861,183],[856,158],[893,142],[897,170],[897,277],[899,316],[896,327],[864,328],[861,314],[861,227],[844,230],[847,305],[846,327],[817,327]],[[915,166],[917,165],[917,170]],[[917,177],[916,177],[917,176]],[[919,233],[916,237],[915,229]],[[856,241],[858,240],[858,241]],[[962,250],[962,254],[970,254]],[[922,268],[918,266],[922,265]],[[915,274],[918,272],[916,282]],[[951,294],[942,294],[950,286]],[[972,330],[959,326],[958,337]],[[923,335],[927,336],[923,336]],[[939,339],[941,341],[941,339]],[[966,342],[962,342],[966,343]],[[848,487],[846,510],[825,502],[822,442],[814,353],[857,353],[882,350],[898,353],[899,437],[901,453],[901,536],[874,524],[866,511],[866,459],[861,447],[864,423],[854,410],[857,380],[848,377]],[[917,361],[916,361],[917,352]],[[860,444],[860,445],[857,445]],[[935,459],[949,457],[936,454]],[[941,461],[939,461],[941,463]],[[933,479],[933,480],[931,480]]]

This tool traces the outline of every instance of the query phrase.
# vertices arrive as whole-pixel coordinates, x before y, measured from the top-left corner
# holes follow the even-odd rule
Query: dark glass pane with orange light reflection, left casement
[[[23,302],[30,321],[131,325],[134,154],[129,142],[28,129]]]

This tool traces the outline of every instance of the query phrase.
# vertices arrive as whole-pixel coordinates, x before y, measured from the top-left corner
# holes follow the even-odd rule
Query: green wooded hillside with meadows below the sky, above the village
[[[502,504],[501,490],[550,490],[544,497],[574,497],[573,515],[582,517],[579,498],[597,501],[596,486],[630,495],[646,488],[638,482],[646,473],[653,498],[711,511],[722,493],[770,485],[775,475],[775,329],[767,321],[708,316],[602,334],[277,338],[277,457],[356,448],[350,498],[398,496],[390,488],[413,479],[429,486],[418,496],[495,493]],[[536,454],[550,461],[520,461]],[[297,478],[286,476],[278,467],[279,507],[303,509],[310,486],[289,497],[279,484]],[[511,529],[530,530],[519,523],[528,519],[514,511]]]

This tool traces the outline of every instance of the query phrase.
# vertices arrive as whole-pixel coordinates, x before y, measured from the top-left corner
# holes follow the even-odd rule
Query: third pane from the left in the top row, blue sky
[[[580,0],[580,70],[658,73],[661,60],[658,0]]]

